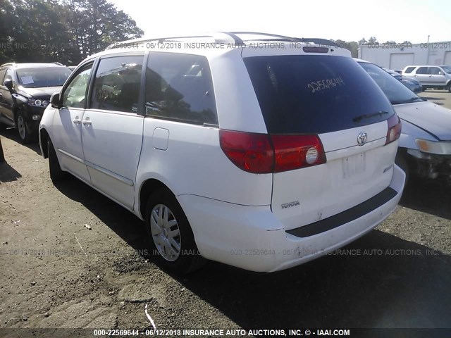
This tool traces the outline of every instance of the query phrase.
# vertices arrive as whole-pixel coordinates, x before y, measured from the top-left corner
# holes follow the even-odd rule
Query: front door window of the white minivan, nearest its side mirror
[[[85,108],[87,86],[91,74],[92,63],[78,71],[63,92],[63,106],[68,108]]]

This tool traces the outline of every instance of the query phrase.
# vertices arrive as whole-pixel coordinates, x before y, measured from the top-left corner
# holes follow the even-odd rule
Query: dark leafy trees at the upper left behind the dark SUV
[[[0,63],[68,65],[143,34],[106,0],[0,0],[0,32]]]

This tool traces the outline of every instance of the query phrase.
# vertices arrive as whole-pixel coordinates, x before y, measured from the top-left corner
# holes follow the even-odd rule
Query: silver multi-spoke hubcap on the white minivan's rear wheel
[[[156,249],[166,261],[173,262],[180,256],[181,238],[177,220],[171,209],[157,204],[150,214],[150,230]]]

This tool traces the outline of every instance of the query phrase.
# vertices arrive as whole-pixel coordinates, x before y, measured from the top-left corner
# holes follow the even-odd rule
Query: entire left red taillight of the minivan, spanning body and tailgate
[[[268,135],[220,130],[224,154],[249,173],[280,173],[326,163],[316,135]]]

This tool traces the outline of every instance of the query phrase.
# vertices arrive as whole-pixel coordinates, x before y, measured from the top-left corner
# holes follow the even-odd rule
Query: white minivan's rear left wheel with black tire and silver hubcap
[[[149,196],[145,224],[150,256],[162,268],[185,275],[203,265],[190,223],[168,189],[158,189]]]

